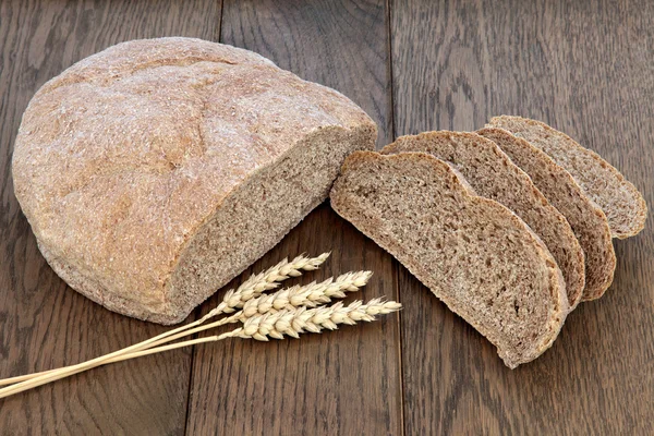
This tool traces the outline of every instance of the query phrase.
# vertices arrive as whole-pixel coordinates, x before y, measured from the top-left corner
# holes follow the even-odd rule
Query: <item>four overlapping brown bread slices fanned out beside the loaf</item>
[[[548,349],[568,313],[613,281],[611,238],[646,205],[597,154],[534,120],[403,136],[355,152],[334,209],[391,253],[509,367]]]

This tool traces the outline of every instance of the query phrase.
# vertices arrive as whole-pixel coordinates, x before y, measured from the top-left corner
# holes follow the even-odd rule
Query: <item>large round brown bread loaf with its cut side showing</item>
[[[136,40],[39,89],[13,179],[72,288],[172,324],[279,242],[327,197],[346,156],[375,140],[348,98],[256,53]]]

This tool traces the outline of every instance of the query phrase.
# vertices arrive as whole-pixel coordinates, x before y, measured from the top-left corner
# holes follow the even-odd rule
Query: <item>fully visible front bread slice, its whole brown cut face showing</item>
[[[568,313],[556,262],[516,214],[475,195],[443,160],[355,152],[330,197],[340,216],[488,338],[507,366],[537,358],[556,339]]]

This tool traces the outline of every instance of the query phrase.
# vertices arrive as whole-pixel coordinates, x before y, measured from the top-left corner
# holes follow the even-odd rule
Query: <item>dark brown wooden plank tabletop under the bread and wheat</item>
[[[10,161],[29,98],[77,60],[184,35],[257,51],[331,86],[378,146],[494,114],[544,120],[601,153],[654,205],[654,4],[634,1],[0,0],[0,375],[76,363],[165,328],[69,289],[39,254]],[[654,232],[616,241],[615,282],[554,347],[510,371],[491,343],[325,203],[231,284],[332,251],[323,279],[375,276],[405,310],[302,340],[230,340],[0,400],[2,434],[654,434]],[[227,288],[226,288],[227,289]],[[191,318],[213,307],[222,291]]]

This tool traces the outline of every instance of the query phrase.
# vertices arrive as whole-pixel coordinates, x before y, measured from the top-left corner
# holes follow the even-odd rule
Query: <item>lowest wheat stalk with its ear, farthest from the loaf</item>
[[[181,347],[219,341],[227,338],[252,338],[259,341],[267,341],[268,338],[283,339],[286,336],[298,338],[300,334],[303,332],[320,332],[324,329],[335,330],[340,324],[354,325],[358,322],[372,322],[375,320],[375,316],[377,315],[389,314],[391,312],[399,311],[400,308],[400,303],[393,301],[384,301],[382,299],[371,300],[367,304],[356,301],[348,306],[343,306],[343,304],[339,302],[331,306],[322,306],[316,308],[306,308],[305,306],[283,308],[274,313],[254,315],[245,320],[243,327],[222,335],[193,339],[169,346],[152,348],[148,350],[141,350],[129,355],[116,355],[102,361],[99,365],[134,359],[147,354],[155,354]],[[81,373],[89,370],[90,367],[81,366],[73,371],[46,374],[43,377],[37,377],[19,383],[14,386],[2,388],[0,389],[0,398],[5,398],[27,389],[71,376],[73,374]]]

